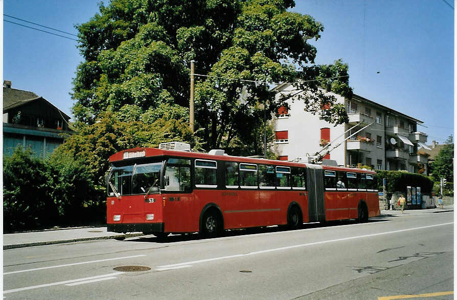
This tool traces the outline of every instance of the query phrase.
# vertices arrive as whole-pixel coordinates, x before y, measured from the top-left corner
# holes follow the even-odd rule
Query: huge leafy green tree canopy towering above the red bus
[[[286,98],[273,97],[264,82],[290,82],[302,91],[305,110],[333,123],[346,112],[325,94],[351,96],[348,66],[340,60],[316,66],[324,27],[291,12],[291,0],[112,0],[77,26],[84,61],[72,96],[77,121],[94,124],[105,111],[128,121],[172,107],[182,117],[189,103],[189,65],[196,61],[195,117],[208,148],[248,136]],[[310,81],[319,79],[318,81]],[[245,80],[245,81],[241,81]],[[257,83],[253,83],[255,81]],[[322,89],[318,89],[322,87]],[[323,110],[326,107],[329,109]],[[130,114],[130,111],[132,114]],[[172,115],[174,113],[171,113]]]

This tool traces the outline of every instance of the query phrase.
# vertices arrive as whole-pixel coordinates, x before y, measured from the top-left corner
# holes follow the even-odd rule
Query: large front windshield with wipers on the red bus
[[[162,162],[112,167],[108,174],[108,195],[158,193],[161,168]]]

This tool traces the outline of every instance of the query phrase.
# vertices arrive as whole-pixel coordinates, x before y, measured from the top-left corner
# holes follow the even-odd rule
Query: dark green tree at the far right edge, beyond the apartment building
[[[431,177],[436,182],[445,178],[448,182],[454,181],[454,141],[452,135],[448,137],[440,153],[435,157],[435,161],[430,165]]]

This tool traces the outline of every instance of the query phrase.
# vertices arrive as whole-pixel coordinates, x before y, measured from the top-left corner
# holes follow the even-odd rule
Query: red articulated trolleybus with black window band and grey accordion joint
[[[297,229],[380,214],[376,173],[368,170],[196,153],[177,142],[121,151],[109,162],[111,232],[216,237],[227,229]]]

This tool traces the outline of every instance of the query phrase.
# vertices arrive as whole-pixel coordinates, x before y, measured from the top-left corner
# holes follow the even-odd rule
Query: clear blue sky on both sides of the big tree
[[[74,25],[94,16],[98,2],[4,0],[4,14],[77,34]],[[317,64],[341,58],[349,65],[354,93],[422,120],[427,128],[418,126],[418,130],[428,134],[430,144],[432,140],[443,143],[453,134],[454,10],[449,4],[454,3],[446,2],[304,0],[296,1],[291,10],[309,14],[324,25],[322,38],[312,42]],[[71,115],[73,101],[68,93],[82,61],[76,45],[70,39],[4,22],[4,79]]]

